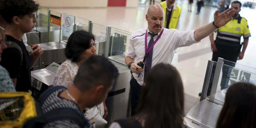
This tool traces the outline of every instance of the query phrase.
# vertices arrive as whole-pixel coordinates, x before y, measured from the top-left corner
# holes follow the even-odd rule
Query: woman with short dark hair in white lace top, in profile
[[[68,59],[61,63],[57,69],[53,83],[54,86],[62,85],[69,88],[73,84],[81,62],[87,57],[95,55],[94,40],[94,35],[84,30],[75,31],[70,35],[65,49],[65,56]],[[105,102],[94,106],[92,109],[95,107],[98,108],[103,118],[107,116],[108,109],[106,108]]]

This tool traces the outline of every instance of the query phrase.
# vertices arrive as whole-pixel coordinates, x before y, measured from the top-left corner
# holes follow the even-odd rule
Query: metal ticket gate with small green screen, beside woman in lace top
[[[44,69],[31,71],[32,95],[35,98],[39,98],[44,90],[53,86],[54,76],[59,66],[58,63],[53,62]]]

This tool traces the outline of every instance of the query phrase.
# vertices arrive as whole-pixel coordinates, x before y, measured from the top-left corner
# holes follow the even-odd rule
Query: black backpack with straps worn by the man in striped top
[[[66,88],[66,87],[63,87],[63,86],[51,87],[40,95],[38,101],[35,100],[35,106],[37,108],[38,116],[27,120],[23,126],[24,128],[40,128],[44,124],[50,121],[60,120],[60,119],[74,120],[77,124],[79,124],[80,128],[85,128],[86,126],[90,127],[90,124],[85,119],[84,114],[82,112],[79,112],[71,108],[56,109],[43,114],[41,109],[41,103],[47,98],[49,94],[61,88]]]

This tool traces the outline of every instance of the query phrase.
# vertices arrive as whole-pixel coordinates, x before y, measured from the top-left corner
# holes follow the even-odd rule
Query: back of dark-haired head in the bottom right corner
[[[256,86],[238,82],[226,93],[216,128],[256,128]]]

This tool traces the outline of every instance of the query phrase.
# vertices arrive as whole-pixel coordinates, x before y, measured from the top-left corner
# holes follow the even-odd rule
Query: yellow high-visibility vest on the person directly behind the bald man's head
[[[163,11],[165,11],[165,17],[166,17],[166,1],[161,2],[160,5],[162,6]],[[177,9],[173,10],[173,12],[172,12],[170,23],[169,23],[169,28],[176,28],[177,27],[177,22],[178,22],[178,19],[180,17],[180,14],[181,14],[181,8],[176,4],[175,4],[175,6],[176,6]],[[165,26],[167,18],[164,18],[164,19],[165,20],[163,22],[163,26]]]

